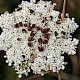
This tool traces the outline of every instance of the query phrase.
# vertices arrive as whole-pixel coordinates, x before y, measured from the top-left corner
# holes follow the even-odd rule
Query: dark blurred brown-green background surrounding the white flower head
[[[10,13],[13,12],[15,8],[17,8],[18,4],[21,3],[21,1],[22,0],[0,0],[0,14],[4,13],[5,11],[9,11]],[[55,9],[61,12],[63,0],[52,0],[52,2],[57,3]],[[78,23],[78,25],[80,25],[80,0],[67,0],[66,12],[70,14],[70,17],[75,17],[75,21]],[[76,37],[80,40],[80,27],[75,31],[73,37]],[[12,67],[8,67],[8,65],[5,63],[3,55],[4,52],[0,51],[0,80],[20,80],[17,77],[14,69]],[[65,61],[68,62],[64,71],[69,75],[72,74],[73,76],[76,76],[78,80],[80,80],[80,43],[78,44],[76,54],[78,61],[76,61],[75,57],[68,56],[67,54],[64,54],[64,56]],[[55,76],[45,75],[44,77],[40,77],[34,80],[57,80],[57,78]]]

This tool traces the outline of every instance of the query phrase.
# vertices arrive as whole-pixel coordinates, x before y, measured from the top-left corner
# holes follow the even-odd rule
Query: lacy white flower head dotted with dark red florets
[[[78,28],[74,18],[62,22],[50,1],[22,1],[19,7],[19,11],[0,16],[0,50],[6,51],[6,63],[13,65],[19,78],[31,70],[42,76],[48,70],[64,70],[62,54],[76,54],[78,44],[71,35]]]

